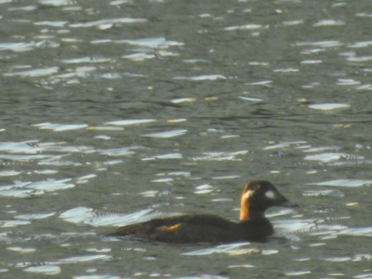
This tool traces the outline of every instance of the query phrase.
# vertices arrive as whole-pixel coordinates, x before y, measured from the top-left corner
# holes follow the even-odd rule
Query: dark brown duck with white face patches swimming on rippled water
[[[216,215],[187,214],[127,225],[108,235],[140,234],[170,243],[265,242],[274,233],[272,224],[264,215],[271,206],[298,205],[288,201],[270,182],[253,181],[243,190],[238,223]]]

